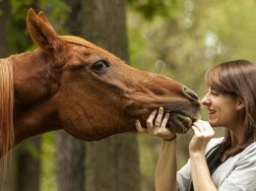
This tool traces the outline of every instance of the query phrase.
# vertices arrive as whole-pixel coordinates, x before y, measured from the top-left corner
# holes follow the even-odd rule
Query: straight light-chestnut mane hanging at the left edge
[[[0,157],[14,146],[13,110],[13,64],[9,59],[0,59]]]

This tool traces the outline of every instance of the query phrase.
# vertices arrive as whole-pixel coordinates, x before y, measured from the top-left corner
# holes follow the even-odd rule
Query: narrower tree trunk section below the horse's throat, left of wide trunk
[[[85,190],[85,143],[65,131],[55,132],[56,176],[59,191]]]

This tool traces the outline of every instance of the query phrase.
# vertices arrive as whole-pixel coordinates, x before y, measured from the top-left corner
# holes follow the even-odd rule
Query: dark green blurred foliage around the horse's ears
[[[28,10],[33,8],[36,13],[43,11],[53,23],[57,32],[63,32],[62,25],[71,12],[70,7],[62,0],[9,0],[11,20],[8,28],[10,54],[32,49],[32,39],[26,27]]]

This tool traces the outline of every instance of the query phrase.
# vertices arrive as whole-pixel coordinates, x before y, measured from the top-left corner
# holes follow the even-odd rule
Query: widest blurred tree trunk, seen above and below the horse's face
[[[84,35],[128,62],[125,1],[84,0]],[[87,190],[141,190],[137,138],[114,135],[87,143]]]

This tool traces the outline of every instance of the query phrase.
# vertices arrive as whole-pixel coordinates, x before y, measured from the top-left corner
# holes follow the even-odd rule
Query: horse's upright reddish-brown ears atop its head
[[[59,49],[61,40],[47,21],[44,14],[38,15],[32,9],[27,16],[27,27],[31,34],[32,41],[45,50]]]

